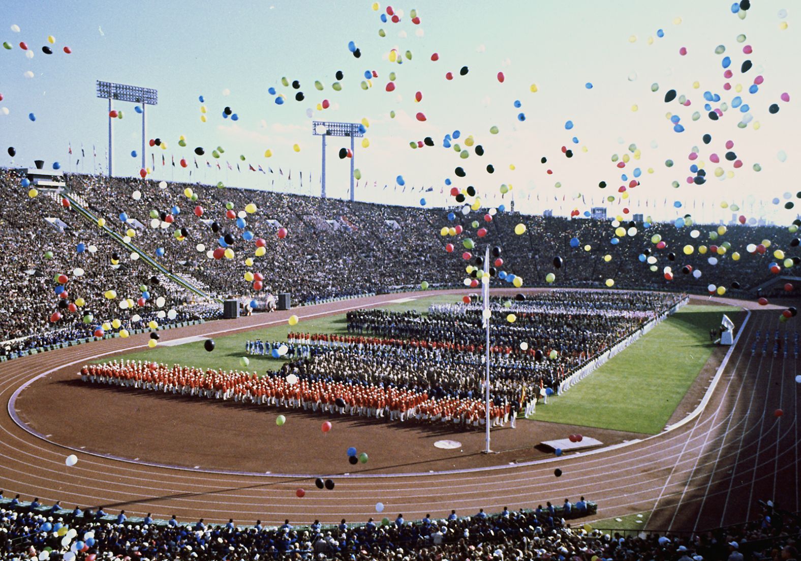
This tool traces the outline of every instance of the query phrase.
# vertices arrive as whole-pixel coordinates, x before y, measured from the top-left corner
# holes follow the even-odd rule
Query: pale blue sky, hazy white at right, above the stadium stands
[[[312,137],[311,114],[333,121],[368,119],[365,136],[370,145],[356,144],[356,167],[362,177],[356,191],[359,200],[417,205],[425,196],[426,204],[442,205],[449,202],[445,180],[450,178],[462,188],[475,185],[486,204],[508,206],[514,196],[516,208],[523,212],[584,212],[614,195],[614,203],[606,204],[613,215],[628,207],[657,220],[685,212],[699,220],[729,220],[731,210],[720,208],[726,201],[738,204],[738,214],[749,218],[786,223],[795,217],[795,209],[783,209],[783,194],[791,192],[795,200],[799,190],[795,162],[801,42],[795,27],[801,23],[794,21],[795,4],[754,2],[743,19],[732,13],[727,0],[421,1],[391,4],[403,15],[398,23],[384,23],[380,14],[386,14],[387,5],[381,2],[374,11],[372,3],[6,2],[0,41],[13,48],[0,49],[2,163],[31,165],[34,159],[44,159],[50,167],[58,160],[70,169],[71,143],[72,169],[83,144],[86,156],[77,170],[91,171],[93,145],[97,165],[105,170],[107,102],[95,97],[95,80],[102,79],[158,89],[158,106],[147,108],[147,136],[166,140],[168,148],[153,151],[156,166],[150,177],[155,180],[188,180],[191,170],[191,180],[207,183],[222,180],[235,186],[319,193],[320,138]],[[420,25],[412,22],[413,9]],[[380,37],[381,29],[385,37]],[[737,41],[739,34],[745,35],[743,42]],[[55,38],[51,55],[42,52],[42,46],[49,45],[48,35]],[[20,41],[30,46],[33,59],[26,58]],[[360,48],[359,59],[348,50],[349,41]],[[725,53],[715,54],[718,45],[726,47]],[[72,54],[64,54],[63,46],[70,46]],[[753,52],[744,54],[745,46]],[[392,48],[402,64],[389,62]],[[407,50],[411,60],[405,59]],[[431,60],[435,52],[437,62]],[[731,57],[731,79],[723,75],[724,56]],[[742,74],[746,59],[753,67]],[[464,66],[469,73],[461,76]],[[28,71],[32,78],[26,77]],[[332,89],[336,71],[344,72],[341,91]],[[360,87],[364,71],[378,74],[366,91]],[[454,74],[451,81],[445,79],[448,71]],[[505,75],[503,83],[497,79],[499,71]],[[385,91],[390,72],[396,73],[392,92]],[[748,88],[758,75],[764,82],[750,94]],[[302,102],[294,99],[296,90],[281,85],[284,76],[300,81]],[[322,91],[314,87],[315,80],[324,84]],[[592,83],[592,89],[586,83]],[[724,83],[731,84],[730,91],[723,89]],[[537,86],[535,93],[532,84]],[[651,91],[652,84],[658,91]],[[739,94],[737,84],[743,86]],[[270,87],[287,95],[286,103],[277,105]],[[678,100],[665,103],[670,89],[686,95],[690,106],[682,107]],[[420,103],[415,101],[417,91],[423,96]],[[721,96],[714,107],[722,102],[730,106],[722,119],[713,122],[707,117],[705,91]],[[789,102],[780,99],[783,92],[790,95]],[[731,107],[735,95],[751,107],[753,120],[745,128],[737,127],[746,114]],[[324,99],[331,107],[318,111]],[[515,100],[520,108],[514,107]],[[771,103],[779,105],[778,114],[769,113]],[[207,107],[206,123],[200,120],[201,105]],[[223,119],[226,106],[239,120]],[[140,161],[131,151],[141,151],[141,120],[133,105],[115,107],[124,111],[124,119],[114,125],[115,175],[138,176]],[[390,111],[395,111],[394,119]],[[425,122],[415,118],[418,111],[425,114]],[[701,115],[697,121],[691,119],[694,111]],[[525,121],[517,119],[521,112]],[[685,131],[673,131],[669,112],[681,117]],[[574,123],[570,130],[565,127],[568,120]],[[497,135],[489,132],[493,126],[499,129]],[[461,131],[455,142],[469,151],[467,159],[442,147],[443,137],[455,130]],[[705,133],[712,136],[709,145],[702,143]],[[186,136],[187,147],[179,147],[179,135]],[[465,146],[469,135],[485,148],[485,155],[479,157],[474,146]],[[435,147],[409,147],[410,141],[426,136],[433,138]],[[739,169],[724,158],[730,139],[743,163]],[[292,150],[296,143],[299,152]],[[632,143],[642,156],[619,169],[612,155],[630,154]],[[225,149],[219,160],[211,157],[217,146]],[[329,196],[348,193],[349,160],[338,157],[343,146],[346,143],[337,139],[328,142]],[[572,149],[574,157],[566,158],[562,146]],[[688,155],[694,146],[699,157],[691,162]],[[15,158],[7,155],[6,147],[15,147]],[[195,147],[206,150],[198,157],[198,170]],[[264,157],[268,149],[270,158]],[[787,155],[786,161],[780,161],[779,151]],[[710,161],[713,152],[721,163]],[[148,147],[148,165],[150,153]],[[185,157],[190,167],[171,167],[173,155],[176,165]],[[548,159],[545,164],[540,163],[543,156]],[[673,167],[666,167],[667,159],[674,161]],[[219,161],[222,170],[207,168],[207,160]],[[234,171],[227,171],[226,160]],[[241,173],[235,171],[236,163]],[[488,163],[495,167],[493,174],[485,171]],[[691,163],[704,164],[706,184],[686,184],[687,176],[694,175]],[[755,163],[761,171],[754,171]],[[248,164],[275,173],[249,172]],[[460,165],[467,172],[464,179],[454,175]],[[723,167],[723,179],[714,176],[718,166]],[[641,185],[629,200],[618,202],[618,187],[628,184],[621,174],[630,180],[634,167],[641,168]],[[729,171],[734,177],[726,178]],[[405,178],[405,191],[396,186],[396,176]],[[678,188],[671,185],[674,180]],[[608,187],[598,188],[600,181]],[[501,184],[513,186],[503,198]],[[421,192],[429,187],[432,192]],[[772,204],[775,197],[781,205]],[[683,204],[678,210],[677,200]]]

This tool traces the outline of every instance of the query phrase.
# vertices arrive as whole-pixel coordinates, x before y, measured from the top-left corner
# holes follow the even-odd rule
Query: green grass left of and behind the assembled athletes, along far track
[[[402,296],[398,296],[401,298]],[[418,298],[410,302],[396,302],[381,306],[382,309],[392,309],[394,311],[406,311],[410,309],[417,310],[418,312],[427,312],[429,305],[441,304],[448,302],[456,302],[459,297],[450,294],[437,294],[436,296]],[[172,347],[159,346],[155,349],[147,349],[139,353],[126,354],[127,360],[143,360],[143,361],[157,361],[164,364],[179,364],[184,366],[195,366],[202,369],[242,369],[239,365],[239,358],[247,356],[250,360],[248,371],[264,373],[267,370],[280,369],[284,364],[284,359],[261,357],[256,355],[248,355],[245,353],[245,341],[261,339],[262,341],[286,341],[287,333],[290,330],[304,333],[338,333],[340,335],[348,334],[348,321],[344,313],[334,316],[315,317],[310,320],[304,320],[304,311],[307,313],[314,313],[315,308],[299,308],[296,313],[300,317],[298,325],[290,328],[287,324],[275,325],[265,329],[252,329],[244,333],[236,333],[235,335],[227,335],[224,337],[214,337],[215,349],[211,353],[207,353],[203,349],[203,341],[194,343],[184,343],[183,345],[175,345]],[[269,319],[268,316],[264,316]],[[220,326],[223,324],[220,323]],[[216,323],[206,324],[207,333],[212,333],[218,327]],[[115,360],[115,357],[108,357],[96,362],[110,362]]]

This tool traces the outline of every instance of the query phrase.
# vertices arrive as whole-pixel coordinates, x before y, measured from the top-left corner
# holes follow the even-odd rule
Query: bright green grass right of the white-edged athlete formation
[[[667,424],[714,346],[709,330],[732,306],[686,305],[531,419],[657,434]],[[739,328],[737,318],[732,318]]]

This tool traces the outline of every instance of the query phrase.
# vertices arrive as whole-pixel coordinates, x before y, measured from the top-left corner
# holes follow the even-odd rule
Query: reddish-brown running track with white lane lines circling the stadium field
[[[414,293],[420,297],[425,293]],[[219,336],[276,325],[291,313],[301,320],[381,305],[409,295],[392,294],[360,300],[309,306],[292,312],[261,314],[235,321],[211,322],[171,329],[163,341],[193,335]],[[721,299],[725,301],[724,299]],[[78,465],[67,468],[68,452],[22,430],[9,414],[0,416],[0,489],[44,504],[60,499],[64,507],[103,505],[108,512],[125,509],[128,515],[153,513],[167,519],[203,517],[223,523],[324,523],[366,520],[402,512],[406,519],[431,513],[444,516],[455,508],[460,515],[536,507],[545,501],[575,501],[586,495],[598,502],[596,518],[652,511],[649,528],[705,530],[753,517],[758,499],[779,499],[779,506],[799,511],[799,431],[795,420],[799,392],[795,383],[799,361],[792,350],[796,321],[780,323],[778,309],[752,309],[739,343],[702,413],[675,430],[600,454],[554,458],[526,466],[498,470],[425,476],[362,477],[336,480],[336,489],[316,491],[308,479],[250,477],[169,470],[78,454]],[[757,306],[757,308],[759,308]],[[740,326],[738,326],[739,329]],[[772,333],[790,331],[787,357],[772,353]],[[757,353],[751,353],[761,332]],[[771,342],[760,353],[765,333]],[[143,348],[147,334],[127,340],[110,339],[50,351],[0,365],[0,402],[43,373],[79,365],[95,357]],[[783,349],[784,350],[784,345]],[[91,406],[91,404],[87,404]],[[783,417],[774,411],[781,408]],[[91,430],[91,427],[87,427]],[[280,450],[276,450],[280,452]],[[554,468],[563,471],[555,478]],[[303,499],[294,490],[312,488]]]

